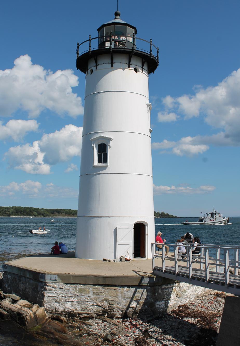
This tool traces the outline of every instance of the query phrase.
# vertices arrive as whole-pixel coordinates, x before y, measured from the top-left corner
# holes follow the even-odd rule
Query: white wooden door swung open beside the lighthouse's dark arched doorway
[[[123,222],[117,225],[117,254],[116,258],[128,256],[132,258],[133,249],[133,225]]]

